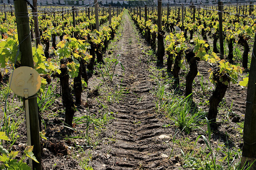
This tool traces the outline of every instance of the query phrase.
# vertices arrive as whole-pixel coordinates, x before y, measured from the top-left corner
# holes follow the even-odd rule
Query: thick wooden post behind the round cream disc
[[[19,51],[21,53],[20,64],[21,66],[34,68],[27,2],[24,0],[15,0],[14,9],[17,23]],[[29,120],[26,121],[30,122],[31,135],[28,136],[28,139],[31,138],[31,146],[34,146],[33,153],[39,162],[36,163],[32,161],[30,167],[32,167],[33,170],[42,170],[37,95],[31,96],[30,99],[28,99],[28,102]]]

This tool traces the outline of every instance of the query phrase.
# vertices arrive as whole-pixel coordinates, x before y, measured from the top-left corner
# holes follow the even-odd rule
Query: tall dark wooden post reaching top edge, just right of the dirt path
[[[165,47],[163,44],[164,32],[162,31],[162,0],[158,0],[157,7],[157,60],[158,64],[163,64],[163,56],[165,55]]]

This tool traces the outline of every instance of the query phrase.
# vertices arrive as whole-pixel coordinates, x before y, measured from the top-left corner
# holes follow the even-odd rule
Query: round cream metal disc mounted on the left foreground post
[[[27,66],[16,68],[9,77],[10,82],[12,91],[22,97],[24,97],[24,89],[28,90],[28,96],[33,96],[41,87],[39,73],[35,69]]]

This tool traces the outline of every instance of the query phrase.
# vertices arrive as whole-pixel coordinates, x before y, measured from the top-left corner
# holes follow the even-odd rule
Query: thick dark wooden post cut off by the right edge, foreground
[[[244,117],[243,152],[241,167],[249,162],[251,165],[256,160],[256,33],[252,52],[252,61],[247,88],[246,109]],[[256,162],[251,170],[256,169]]]

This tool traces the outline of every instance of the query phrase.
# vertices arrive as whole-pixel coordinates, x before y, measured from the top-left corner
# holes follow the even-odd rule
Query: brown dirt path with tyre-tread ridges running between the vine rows
[[[138,44],[132,28],[132,21],[124,13],[123,38],[120,39],[120,62],[125,74],[123,87],[129,89],[119,104],[109,105],[109,109],[117,114],[108,125],[106,136],[112,137],[113,143],[105,143],[99,151],[104,155],[93,155],[94,169],[162,169],[161,155],[168,145],[158,136],[166,134],[162,122],[156,117],[152,82],[148,77],[146,66],[141,62],[143,43]],[[140,47],[141,46],[141,47]],[[118,66],[116,72],[120,75],[117,84],[121,84],[123,69]],[[161,167],[162,166],[162,167]],[[164,168],[165,169],[165,168]]]

